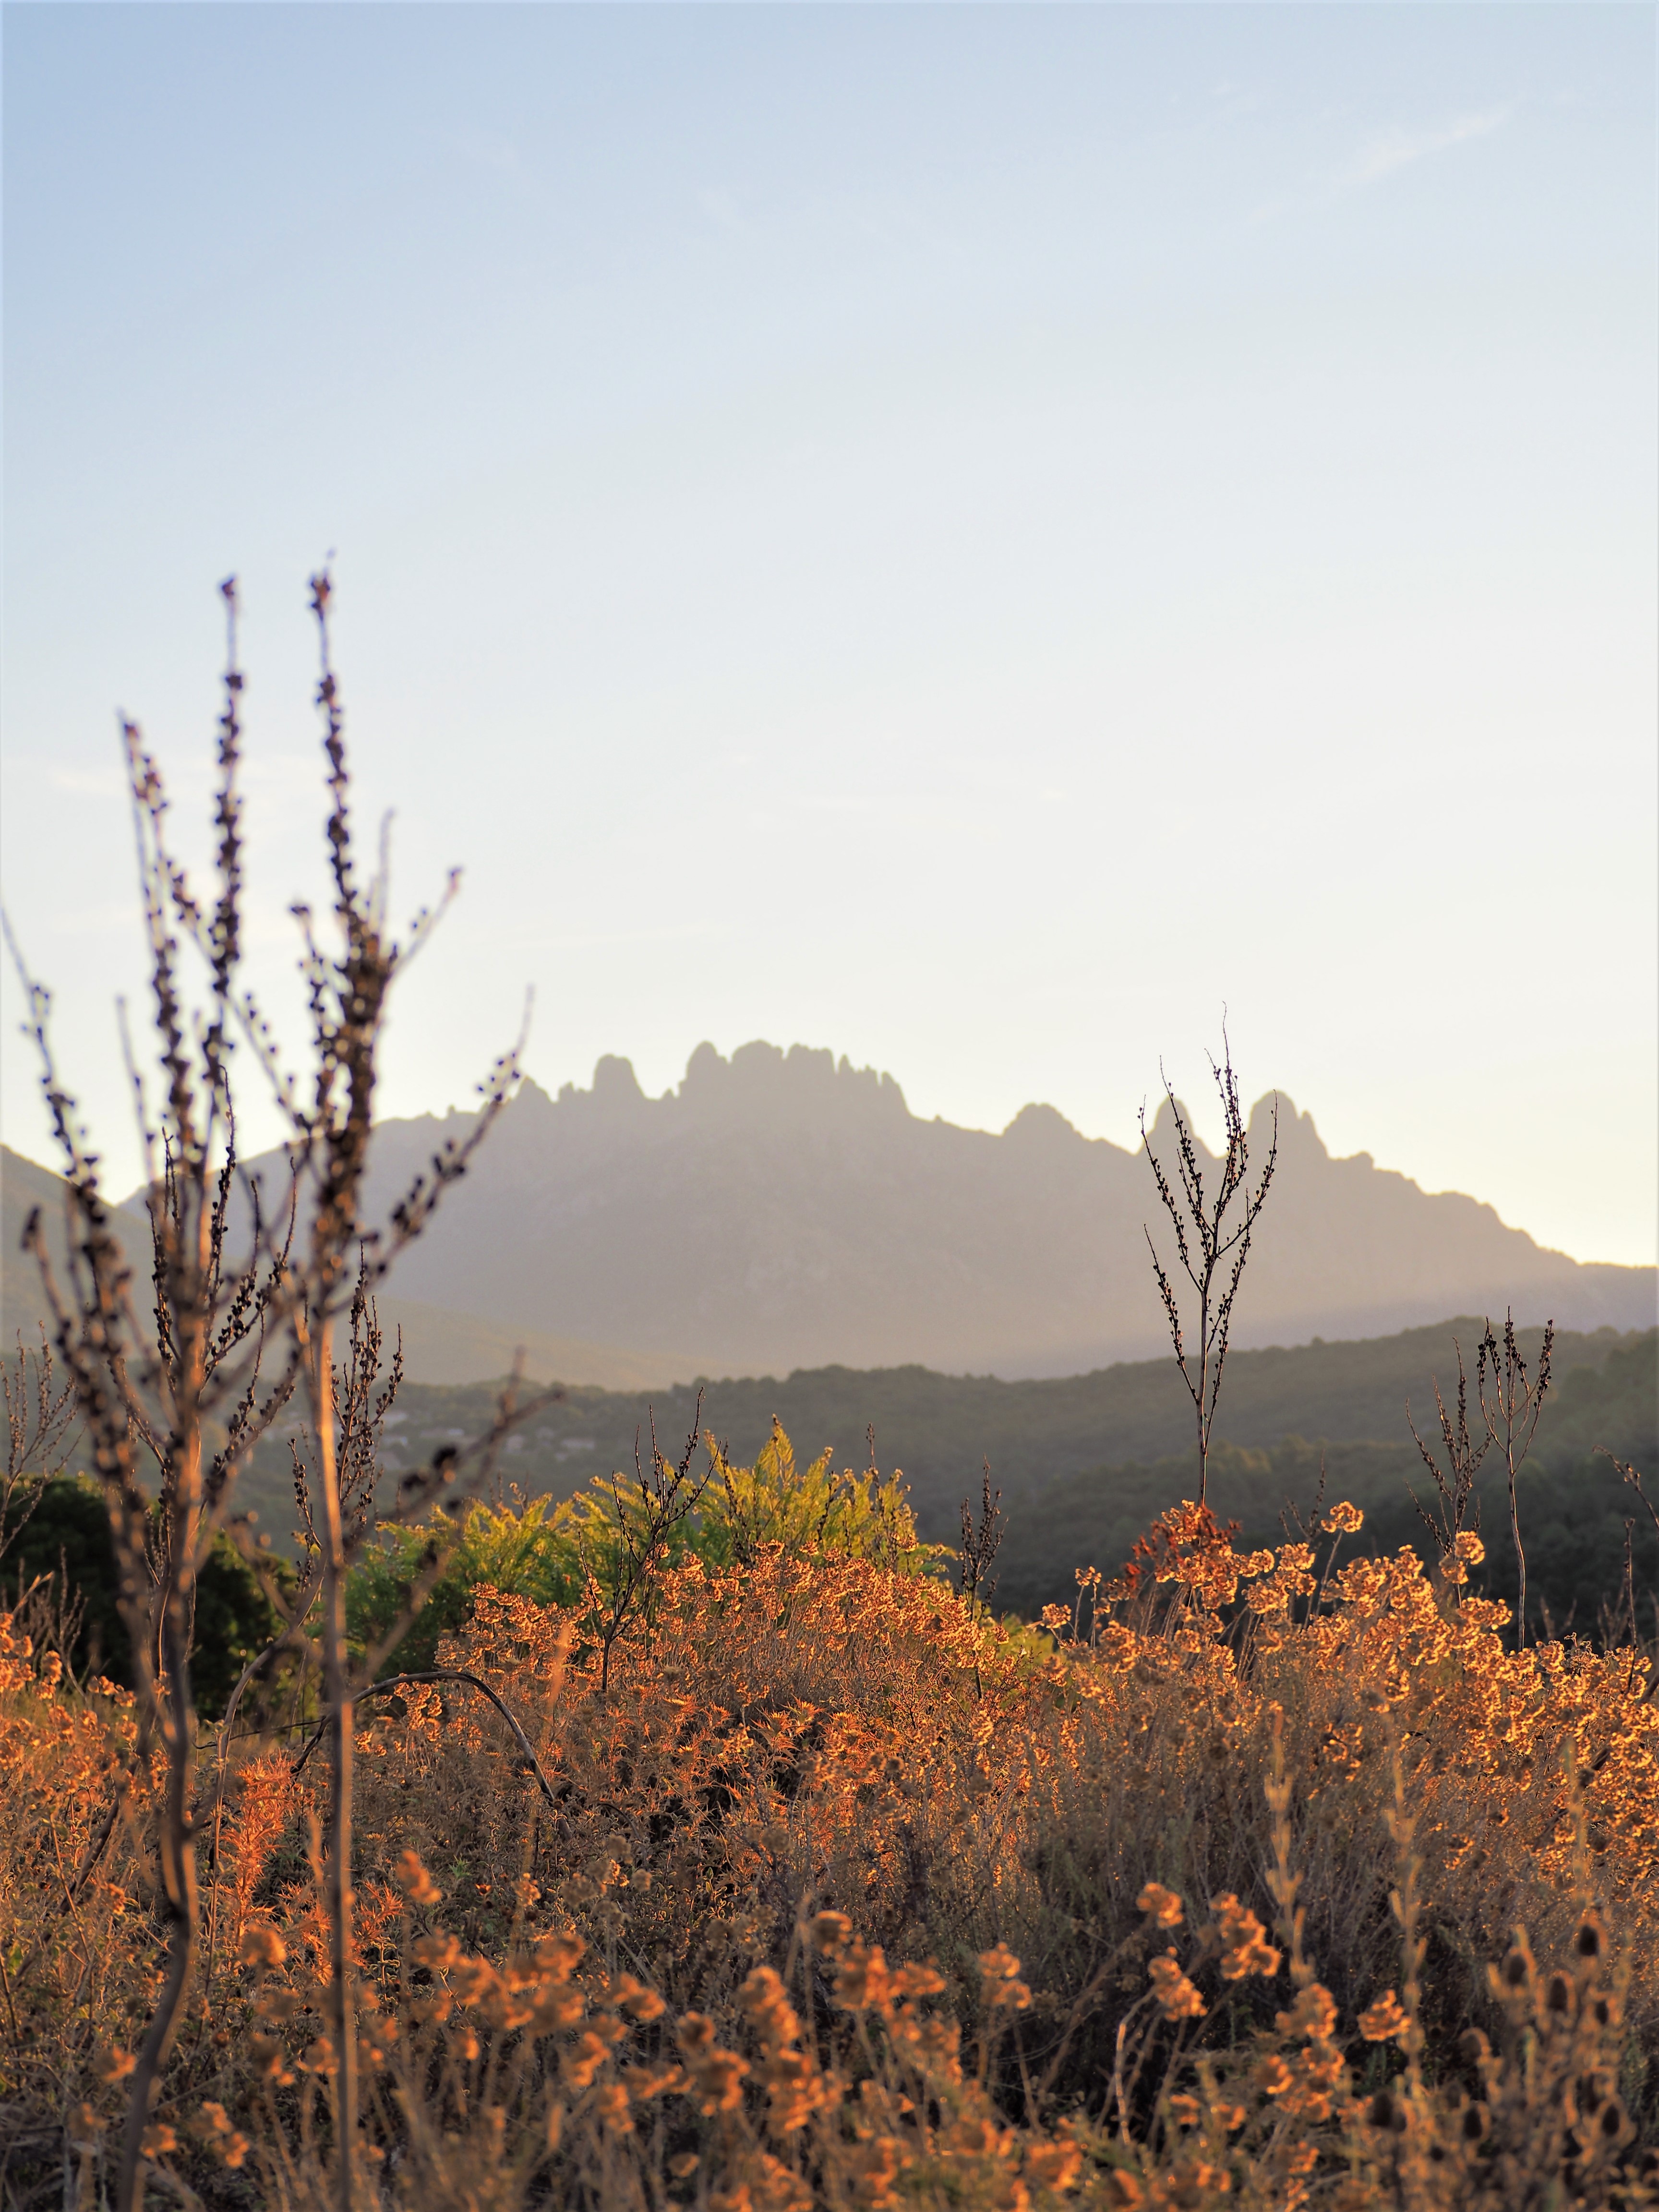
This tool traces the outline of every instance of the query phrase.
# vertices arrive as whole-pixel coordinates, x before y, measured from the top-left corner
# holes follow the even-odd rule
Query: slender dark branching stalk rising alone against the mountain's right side
[[[1261,1208],[1267,1203],[1267,1188],[1274,1177],[1274,1164],[1279,1161],[1279,1099],[1274,1099],[1274,1135],[1267,1148],[1267,1164],[1261,1170],[1261,1181],[1252,1190],[1250,1139],[1245,1135],[1243,1108],[1239,1106],[1239,1082],[1232,1073],[1232,1046],[1225,1042],[1225,1031],[1221,1066],[1212,1060],[1210,1071],[1214,1073],[1217,1091],[1221,1093],[1221,1117],[1225,1124],[1228,1148],[1221,1157],[1221,1181],[1208,1206],[1192,1128],[1177,1104],[1168,1075],[1164,1077],[1164,1095],[1175,1119],[1175,1183],[1170,1181],[1164,1161],[1152,1150],[1152,1141],[1146,1133],[1146,1108],[1141,1108],[1141,1148],[1152,1166],[1159,1201],[1164,1212],[1170,1217],[1170,1228],[1175,1230],[1179,1267],[1199,1301],[1197,1347],[1188,1352],[1186,1329],[1181,1325],[1181,1305],[1175,1296],[1170,1270],[1166,1270],[1164,1261],[1157,1256],[1157,1245],[1152,1243],[1152,1232],[1148,1228],[1146,1250],[1152,1254],[1152,1274],[1157,1276],[1157,1290],[1164,1298],[1164,1316],[1170,1325],[1175,1365],[1181,1369],[1181,1380],[1186,1383],[1186,1394],[1192,1400],[1192,1413],[1199,1431],[1199,1504],[1208,1502],[1210,1438],[1214,1433],[1214,1409],[1221,1398],[1221,1369],[1228,1365],[1232,1307],[1239,1296],[1245,1261],[1250,1259],[1250,1239],[1254,1234],[1256,1219],[1261,1217]],[[1237,1212],[1232,1212],[1234,1203],[1239,1208]],[[1232,1219],[1228,1219],[1230,1212]]]

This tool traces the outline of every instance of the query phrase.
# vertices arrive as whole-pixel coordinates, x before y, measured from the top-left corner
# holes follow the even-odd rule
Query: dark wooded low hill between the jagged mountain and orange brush
[[[1453,1336],[1471,1345],[1475,1321],[1371,1343],[1305,1345],[1296,1352],[1241,1352],[1228,1363],[1223,1442],[1210,1469],[1210,1498],[1237,1517],[1245,1548],[1283,1540],[1281,1513],[1307,1515],[1325,1475],[1325,1502],[1349,1498],[1365,1511],[1360,1551],[1425,1546],[1411,1493],[1431,1498],[1405,1407],[1433,1438],[1433,1380],[1455,1389]],[[1524,1332],[1528,1363],[1537,1332]],[[1522,1473],[1522,1526],[1531,1555],[1533,1606],[1546,1626],[1593,1632],[1599,1608],[1624,1588],[1626,1520],[1635,1515],[1635,1595],[1639,1617],[1659,1601],[1659,1540],[1617,1469],[1597,1447],[1659,1478],[1659,1332],[1619,1336],[1564,1332],[1555,1347],[1555,1387]],[[504,1478],[526,1493],[571,1495],[593,1473],[633,1464],[633,1442],[655,1416],[657,1436],[677,1451],[692,1418],[686,1387],[655,1394],[573,1389],[513,1438]],[[387,1469],[425,1464],[453,1436],[478,1433],[489,1389],[409,1389],[394,1416]],[[940,1376],[922,1367],[856,1374],[827,1367],[783,1380],[710,1383],[703,1425],[739,1462],[752,1462],[779,1416],[796,1453],[836,1447],[838,1464],[860,1464],[865,1427],[876,1429],[885,1469],[902,1467],[922,1531],[956,1542],[958,1506],[978,1495],[980,1460],[1002,1489],[1006,1535],[995,1559],[1000,1608],[1035,1617],[1044,1604],[1071,1604],[1075,1568],[1119,1568],[1144,1528],[1190,1498],[1197,1455],[1190,1413],[1168,1358],[1108,1367],[1091,1376],[998,1383]],[[248,1482],[265,1524],[281,1533],[285,1467],[265,1447]],[[1513,1601],[1506,1493],[1493,1460],[1478,1484],[1489,1562],[1478,1584]],[[1349,1546],[1352,1548],[1352,1546]]]

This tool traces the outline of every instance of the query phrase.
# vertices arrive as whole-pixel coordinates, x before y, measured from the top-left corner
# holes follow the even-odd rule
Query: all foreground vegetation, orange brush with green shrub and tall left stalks
[[[993,1604],[989,1475],[967,1557],[922,1542],[874,1442],[863,1471],[803,1467],[781,1429],[752,1467],[695,1422],[672,1455],[648,1436],[549,1506],[495,1482],[511,1402],[480,1451],[383,1480],[372,1287],[460,1164],[367,1239],[396,953],[352,876],[325,659],[343,949],[307,938],[292,1203],[234,1256],[232,1018],[263,1035],[234,989],[239,681],[232,657],[212,920],[133,732],[173,1086],[155,1352],[53,1077],[80,1254],[58,1374],[133,1679],[82,1677],[66,1593],[18,1586],[7,2201],[1659,2203],[1659,1663],[1635,1601],[1522,1646],[1471,1595],[1455,1513],[1425,1562],[1363,1551],[1340,1500],[1272,1546],[1170,1502],[1022,1624]],[[27,1460],[62,1380],[20,1360],[24,1385]],[[279,1571],[234,1486],[290,1400]],[[42,1436],[18,1511],[69,1462]],[[1442,1447],[1455,1500],[1478,1449],[1455,1413]],[[215,1559],[270,1637],[204,1719]]]

